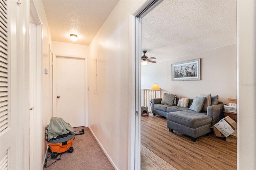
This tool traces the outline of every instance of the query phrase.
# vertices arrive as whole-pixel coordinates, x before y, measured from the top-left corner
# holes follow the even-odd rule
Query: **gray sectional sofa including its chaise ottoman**
[[[161,104],[163,103],[162,98],[154,98],[152,99],[152,112],[153,115],[157,114],[166,117],[167,127],[170,132],[173,132],[173,130],[179,131],[190,136],[191,140],[195,142],[198,137],[210,133],[210,127],[224,117],[225,104],[218,101],[218,96],[217,101],[216,96],[214,96],[214,99],[211,98],[212,96],[210,95],[205,98],[200,96],[189,99],[186,107],[175,106],[180,100],[176,96],[176,102],[172,103],[173,100],[170,100],[167,102],[168,104]],[[211,105],[211,100],[214,101],[212,102],[214,103],[213,105]],[[208,101],[207,104],[206,101]],[[201,107],[204,107],[204,109]]]

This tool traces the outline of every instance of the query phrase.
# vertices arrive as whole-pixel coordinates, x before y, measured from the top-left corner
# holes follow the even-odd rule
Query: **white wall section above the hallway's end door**
[[[87,58],[89,55],[89,46],[52,41],[52,52],[55,55]]]

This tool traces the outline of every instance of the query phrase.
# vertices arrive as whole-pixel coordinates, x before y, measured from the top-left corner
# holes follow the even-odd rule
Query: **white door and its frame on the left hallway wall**
[[[32,45],[34,47],[32,47]],[[42,143],[42,111],[41,111],[41,82],[42,82],[42,21],[40,20],[33,1],[30,1],[30,119],[29,119],[29,168],[41,169]]]

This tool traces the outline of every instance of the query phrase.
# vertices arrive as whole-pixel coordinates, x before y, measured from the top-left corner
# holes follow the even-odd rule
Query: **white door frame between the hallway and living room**
[[[141,133],[141,19],[162,0],[147,0],[138,4],[135,12],[130,13],[131,56],[132,56],[132,103],[130,122],[129,168],[140,169],[140,133]],[[134,168],[133,168],[134,167]]]

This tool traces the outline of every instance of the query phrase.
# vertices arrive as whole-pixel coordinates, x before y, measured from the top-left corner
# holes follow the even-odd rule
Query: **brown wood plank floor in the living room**
[[[141,146],[141,169],[236,170],[236,143],[213,134],[192,142],[177,131],[170,133],[166,118],[152,113],[141,117]]]

